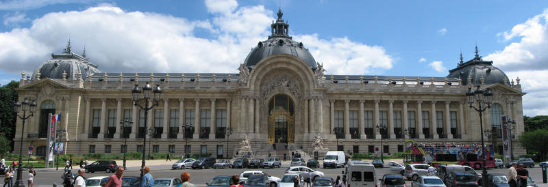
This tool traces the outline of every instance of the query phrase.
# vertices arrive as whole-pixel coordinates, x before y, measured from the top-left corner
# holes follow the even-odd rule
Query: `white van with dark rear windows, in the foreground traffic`
[[[351,164],[346,172],[349,186],[376,186],[377,173],[373,164]]]

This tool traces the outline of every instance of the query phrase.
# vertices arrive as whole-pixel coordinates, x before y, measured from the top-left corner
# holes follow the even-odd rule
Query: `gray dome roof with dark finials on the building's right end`
[[[501,83],[505,85],[510,85],[508,82],[508,76],[502,72],[499,68],[493,66],[493,61],[484,61],[479,55],[476,55],[474,59],[462,62],[462,55],[458,67],[449,70],[449,78],[460,78],[462,84],[467,85],[468,77],[471,78],[471,83],[474,85],[482,84],[482,78],[484,79],[485,84],[495,84]],[[506,82],[506,83],[505,83]]]

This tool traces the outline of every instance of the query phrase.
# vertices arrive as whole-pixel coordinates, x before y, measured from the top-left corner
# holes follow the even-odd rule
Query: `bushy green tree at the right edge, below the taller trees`
[[[545,160],[548,153],[548,130],[537,129],[530,132],[524,132],[519,135],[518,143],[521,147],[527,149],[527,152],[538,154],[540,160]]]

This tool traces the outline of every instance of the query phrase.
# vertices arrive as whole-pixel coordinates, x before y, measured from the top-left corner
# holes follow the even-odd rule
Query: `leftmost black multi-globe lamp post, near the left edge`
[[[25,186],[25,184],[23,184],[23,179],[21,179],[21,176],[23,176],[23,133],[25,132],[25,120],[29,119],[30,117],[32,117],[34,115],[34,113],[36,112],[36,102],[34,102],[34,100],[32,101],[32,103],[29,103],[29,100],[27,100],[27,98],[25,98],[25,100],[23,100],[23,102],[19,103],[19,102],[15,102],[15,104],[13,105],[13,109],[14,109],[14,112],[16,113],[16,116],[19,117],[19,119],[23,119],[23,126],[21,126],[21,146],[19,147],[19,162],[18,162],[18,167],[17,167],[17,179],[15,181],[15,185],[14,186]],[[20,113],[21,111],[23,111],[23,116],[21,115],[18,115],[17,113]],[[30,115],[27,115],[27,111],[29,111]]]

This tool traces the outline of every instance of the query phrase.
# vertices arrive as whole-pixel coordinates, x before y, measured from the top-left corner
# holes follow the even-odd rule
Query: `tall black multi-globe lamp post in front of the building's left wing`
[[[151,99],[151,93],[154,93],[153,100],[154,104],[149,106],[149,99]],[[160,85],[156,85],[156,88],[152,90],[152,87],[150,87],[149,83],[142,87],[142,98],[145,99],[145,106],[141,106],[139,104],[139,94],[141,93],[141,90],[139,89],[138,85],[135,85],[135,87],[132,89],[132,99],[133,104],[135,106],[139,106],[140,109],[145,111],[145,127],[147,126],[147,115],[149,114],[149,111],[154,107],[158,106],[158,101],[160,101],[160,96],[162,95],[162,89],[160,89]],[[145,131],[147,129],[145,128]],[[147,134],[145,132],[145,136],[142,137],[142,161],[141,161],[141,169],[140,169],[140,178],[139,178],[139,186],[141,186],[140,181],[142,180],[142,168],[145,167],[145,146],[147,145]]]

